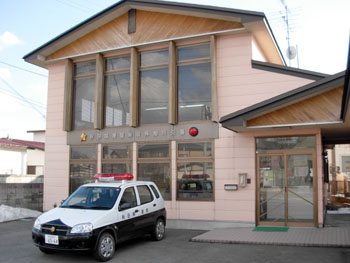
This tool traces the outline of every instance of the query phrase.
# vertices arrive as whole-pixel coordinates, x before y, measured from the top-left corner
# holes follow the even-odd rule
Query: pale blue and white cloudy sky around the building
[[[170,0],[171,1],[171,0]],[[116,0],[0,0],[0,138],[31,140],[44,130],[48,72],[23,56]],[[172,0],[264,12],[282,51],[298,56],[288,66],[327,74],[346,69],[349,0]]]

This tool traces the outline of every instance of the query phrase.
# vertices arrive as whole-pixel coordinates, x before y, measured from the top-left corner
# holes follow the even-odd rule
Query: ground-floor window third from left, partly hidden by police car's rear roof
[[[154,182],[163,198],[171,199],[168,143],[138,145],[137,180]]]

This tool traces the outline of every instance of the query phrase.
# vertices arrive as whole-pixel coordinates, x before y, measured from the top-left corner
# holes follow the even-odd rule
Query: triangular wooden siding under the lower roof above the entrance
[[[339,120],[343,87],[247,121],[247,127]]]

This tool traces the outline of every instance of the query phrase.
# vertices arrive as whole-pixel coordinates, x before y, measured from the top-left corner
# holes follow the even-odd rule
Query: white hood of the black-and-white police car
[[[106,219],[109,221],[113,216],[111,210],[91,210],[91,209],[72,209],[72,208],[54,208],[38,217],[41,224],[60,220],[63,224],[73,227],[77,224],[92,223],[94,228],[105,225]]]

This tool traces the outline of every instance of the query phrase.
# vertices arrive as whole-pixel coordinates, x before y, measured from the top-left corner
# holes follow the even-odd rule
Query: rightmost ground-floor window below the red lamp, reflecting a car
[[[214,200],[212,142],[178,143],[177,200]]]

